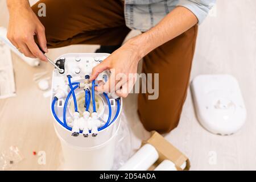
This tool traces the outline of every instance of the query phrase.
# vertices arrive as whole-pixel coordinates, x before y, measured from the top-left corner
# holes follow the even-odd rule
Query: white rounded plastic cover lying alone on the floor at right
[[[246,109],[236,78],[230,75],[200,75],[191,84],[199,122],[213,134],[236,133],[246,120]]]

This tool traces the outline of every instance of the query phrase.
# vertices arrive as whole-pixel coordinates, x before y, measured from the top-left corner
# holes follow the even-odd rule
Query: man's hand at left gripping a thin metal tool
[[[7,0],[7,6],[10,14],[7,38],[25,56],[47,61],[34,40],[36,35],[39,46],[48,52],[44,26],[32,11],[28,0]]]

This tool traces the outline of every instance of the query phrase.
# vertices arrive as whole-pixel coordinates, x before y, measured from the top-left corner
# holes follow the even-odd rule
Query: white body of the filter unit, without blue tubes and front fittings
[[[60,97],[54,110],[57,118],[61,122],[64,121],[64,104],[67,99],[67,94],[70,91],[68,88],[67,76],[72,76],[73,83],[80,83],[79,88],[75,90],[77,106],[79,109],[79,117],[82,118],[82,113],[85,111],[85,92],[84,82],[85,76],[90,76],[93,67],[100,64],[109,54],[107,53],[68,53],[58,57],[56,64],[64,69],[61,74],[55,69],[52,74],[52,95],[51,103],[55,100],[56,95]],[[96,79],[96,84],[100,81],[106,82],[109,77],[109,71],[101,73]],[[82,85],[82,86],[81,86]],[[119,111],[117,100],[113,94],[108,94],[110,107],[112,110],[111,118],[118,113],[117,119],[105,129],[98,131],[97,137],[92,137],[89,133],[88,137],[84,137],[82,133],[78,137],[72,136],[72,131],[64,127],[56,116],[54,126],[57,137],[61,142],[61,147],[64,155],[64,169],[67,170],[110,170],[113,166],[115,139],[120,126],[119,115],[122,111],[122,98],[119,98]],[[103,93],[95,93],[97,116],[100,120],[100,126],[104,126],[109,118],[109,105]],[[74,102],[70,98],[67,102],[65,111],[65,120],[68,127],[74,125]],[[52,107],[52,106],[51,106]],[[90,116],[92,115],[92,103],[90,104]],[[99,126],[99,128],[100,128]]]

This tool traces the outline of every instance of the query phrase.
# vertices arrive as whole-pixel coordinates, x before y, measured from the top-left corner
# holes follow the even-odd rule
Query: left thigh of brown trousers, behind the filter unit
[[[40,0],[32,6],[36,15],[39,3],[46,5],[46,16],[38,18],[45,27],[49,48],[72,44],[115,46],[122,44],[130,31],[121,1]]]

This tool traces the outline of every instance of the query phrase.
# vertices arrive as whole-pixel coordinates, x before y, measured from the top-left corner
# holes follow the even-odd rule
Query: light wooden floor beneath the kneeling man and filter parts
[[[7,26],[7,10],[3,6],[5,0],[0,0],[0,26]],[[255,0],[221,0],[216,16],[208,16],[200,26],[191,78],[204,73],[235,76],[247,107],[247,121],[235,135],[210,134],[197,122],[189,92],[180,124],[166,138],[189,157],[193,170],[256,169],[255,17]],[[93,52],[96,47],[71,46],[51,50],[48,55],[54,58],[67,52]],[[31,68],[15,55],[13,63],[18,96],[0,100],[0,152],[11,145],[19,147],[24,160],[13,169],[60,169],[61,148],[49,114],[49,99],[43,98],[32,81],[34,73],[51,71],[51,65]],[[125,99],[131,151],[149,136],[139,122],[136,101],[135,94]],[[38,156],[32,155],[32,151],[46,151],[46,165],[39,165]]]

